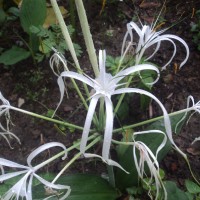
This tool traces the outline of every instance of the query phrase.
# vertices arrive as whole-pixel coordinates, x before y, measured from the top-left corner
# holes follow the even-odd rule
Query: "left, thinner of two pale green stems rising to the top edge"
[[[70,53],[71,53],[71,55],[72,55],[72,58],[73,58],[73,60],[74,60],[74,63],[75,63],[75,65],[76,65],[77,69],[80,71],[80,73],[82,73],[81,67],[80,67],[79,62],[78,62],[78,58],[77,58],[77,56],[76,56],[76,52],[75,52],[75,49],[74,49],[74,45],[73,45],[73,43],[72,43],[72,40],[71,40],[69,31],[68,31],[68,29],[67,29],[67,26],[66,26],[66,24],[65,24],[65,21],[64,21],[64,19],[63,19],[63,16],[62,16],[62,14],[61,14],[61,12],[60,12],[60,9],[59,9],[59,7],[58,7],[57,1],[56,1],[56,0],[51,0],[51,4],[52,4],[52,7],[53,7],[54,12],[55,12],[55,14],[56,14],[56,17],[57,17],[57,20],[58,20],[58,22],[59,22],[60,28],[61,28],[61,30],[62,30],[63,37],[64,37],[64,39],[65,39],[65,41],[66,41],[66,43],[67,43],[67,46],[68,46],[68,48],[69,48],[69,51],[70,51]],[[85,98],[83,97],[83,95],[82,95],[82,93],[81,93],[81,91],[80,91],[78,85],[76,84],[76,82],[75,82],[73,79],[72,79],[72,83],[73,83],[73,85],[74,85],[74,87],[75,87],[75,89],[76,89],[76,91],[77,91],[79,97],[81,98],[81,100],[82,100],[82,102],[83,102],[85,108],[88,110],[88,105],[87,105],[86,100],[85,100]],[[88,88],[87,88],[87,86],[86,86],[85,84],[84,84],[84,89],[85,89],[85,91],[86,91],[87,96],[89,97],[89,91],[88,91]]]

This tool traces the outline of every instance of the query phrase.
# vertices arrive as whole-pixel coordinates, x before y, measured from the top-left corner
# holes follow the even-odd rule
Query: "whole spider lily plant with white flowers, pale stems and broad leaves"
[[[20,165],[10,160],[0,158],[0,170],[2,173],[2,175],[0,175],[0,181],[6,182],[6,184],[3,185],[7,185],[11,178],[18,177],[18,179],[14,179],[14,182],[9,185],[8,189],[3,189],[3,192],[0,190],[2,198],[6,200],[14,198],[32,200],[33,198],[45,199],[47,197],[47,199],[59,198],[64,200],[67,197],[73,199],[76,195],[78,195],[80,199],[79,195],[82,194],[82,199],[86,197],[88,199],[88,196],[92,197],[94,192],[93,199],[116,199],[120,195],[116,192],[117,189],[123,193],[124,190],[128,190],[127,188],[133,187],[137,187],[136,194],[139,194],[141,192],[140,188],[142,188],[148,191],[150,197],[154,197],[155,199],[167,200],[169,198],[171,200],[187,198],[186,194],[178,189],[173,182],[163,181],[159,161],[173,148],[185,159],[191,171],[187,155],[181,151],[173,140],[173,132],[180,132],[189,112],[200,113],[200,101],[195,103],[194,99],[190,96],[186,109],[168,114],[162,102],[150,91],[138,88],[138,84],[134,85],[134,87],[131,85],[132,80],[136,78],[137,81],[141,79],[147,88],[151,88],[160,78],[160,70],[166,68],[166,64],[159,68],[153,64],[142,63],[147,48],[156,45],[156,49],[152,50],[152,54],[146,58],[146,60],[149,60],[158,51],[161,42],[164,40],[171,42],[174,46],[174,52],[167,62],[170,63],[176,53],[176,46],[173,40],[178,40],[186,49],[186,58],[181,63],[181,66],[183,66],[189,57],[189,48],[187,44],[178,36],[162,34],[166,29],[156,32],[156,23],[151,26],[144,25],[141,28],[134,22],[128,23],[127,33],[125,34],[122,53],[117,68],[113,74],[108,73],[106,70],[106,51],[100,50],[97,59],[83,2],[81,0],[75,0],[84,40],[86,42],[87,53],[91,62],[91,70],[93,70],[94,73],[94,76],[90,77],[90,74],[87,75],[83,72],[79,64],[70,37],[69,27],[64,23],[57,1],[51,0],[51,3],[76,69],[76,71],[70,71],[68,69],[68,63],[60,52],[56,51],[50,60],[50,66],[56,76],[58,76],[57,82],[60,89],[60,102],[58,107],[63,100],[65,92],[63,79],[69,78],[72,81],[74,90],[76,90],[80,97],[80,104],[84,105],[84,109],[87,113],[84,125],[78,126],[55,118],[58,107],[51,117],[16,108],[11,106],[9,101],[0,93],[0,100],[2,101],[0,114],[1,117],[5,117],[7,122],[5,127],[0,123],[0,128],[3,130],[0,132],[0,136],[4,137],[8,143],[8,136],[14,136],[14,134],[9,131],[9,125],[11,125],[10,110],[51,121],[58,124],[60,127],[70,127],[72,131],[82,131],[82,136],[80,140],[77,141],[76,139],[68,148],[59,142],[50,142],[36,148],[28,156],[27,165]],[[138,34],[139,40],[137,42],[133,41],[133,30]],[[130,41],[128,36],[130,37]],[[127,42],[128,45],[126,46],[125,44]],[[130,66],[129,63],[124,66],[123,61],[132,44],[135,44],[135,53],[133,54],[135,57],[133,59],[134,63],[131,63]],[[57,74],[54,69],[60,65],[63,66],[64,70],[62,73]],[[76,81],[82,82],[83,86],[77,85]],[[115,115],[122,106],[125,94],[139,94],[151,98],[162,111],[162,116],[130,125],[121,124],[120,128],[115,128]],[[116,105],[113,103],[113,98],[115,96],[120,96]],[[191,106],[189,106],[190,102],[192,102]],[[52,114],[52,112],[50,111],[48,114]],[[138,127],[140,127],[140,129],[138,129],[139,131],[137,130]],[[17,136],[15,136],[15,139],[19,142]],[[96,144],[103,144],[102,153],[99,154],[98,151],[92,151],[92,147]],[[60,147],[62,151],[39,164],[33,164],[32,160],[36,156],[52,147]],[[111,148],[115,151],[118,158],[117,160],[113,157]],[[51,180],[48,180],[47,176],[42,177],[38,174],[38,170],[45,165],[59,157],[65,160],[67,153],[77,149],[78,152],[65,163],[61,171],[57,175],[54,175],[55,177],[51,178]],[[77,178],[77,175],[72,175],[71,181],[67,179],[66,176],[61,176],[77,159],[83,156],[88,159],[93,158],[94,160],[101,160],[107,165],[107,177],[110,184],[100,177],[96,178],[90,175],[84,175],[81,178]],[[18,169],[18,171],[5,172],[5,167],[9,167],[12,170]],[[200,184],[192,171],[191,174],[194,180]],[[81,189],[79,187],[78,191],[76,191],[74,185],[79,185],[80,180],[81,183],[84,182],[84,184],[82,184]],[[38,187],[36,188],[35,182],[38,183]],[[94,188],[95,183],[96,187]],[[45,186],[42,192],[41,190],[37,190],[39,187],[42,188],[41,185]],[[87,189],[84,189],[84,186],[86,186]],[[101,188],[101,191],[99,191],[97,187]],[[72,192],[71,189],[73,190]],[[45,196],[45,192],[47,196]],[[129,192],[131,193],[130,190]]]

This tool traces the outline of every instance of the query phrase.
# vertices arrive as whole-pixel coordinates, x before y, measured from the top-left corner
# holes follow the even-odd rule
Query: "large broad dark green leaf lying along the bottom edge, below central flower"
[[[60,177],[56,183],[71,187],[72,191],[67,200],[115,200],[119,197],[118,192],[106,180],[96,175],[66,175]],[[46,197],[42,184],[33,187],[33,199],[42,200]],[[53,199],[58,198],[50,198]]]

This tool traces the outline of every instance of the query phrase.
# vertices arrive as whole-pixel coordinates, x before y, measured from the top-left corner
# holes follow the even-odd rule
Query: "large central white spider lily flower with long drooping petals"
[[[125,70],[120,71],[115,76],[112,76],[111,74],[108,74],[105,71],[105,60],[106,60],[105,50],[104,51],[100,50],[99,51],[99,76],[96,79],[90,78],[87,75],[82,75],[82,74],[78,74],[76,72],[71,72],[71,71],[65,71],[61,73],[60,77],[58,78],[58,85],[59,85],[60,93],[61,93],[61,99],[60,99],[59,105],[64,95],[63,77],[69,77],[69,78],[80,80],[83,83],[91,86],[91,88],[95,91],[95,94],[92,95],[91,97],[90,105],[88,108],[84,130],[82,133],[80,151],[86,157],[91,157],[91,156],[99,157],[98,155],[94,155],[94,154],[85,154],[85,148],[87,144],[88,135],[90,132],[93,115],[97,106],[97,102],[99,101],[100,98],[103,98],[105,102],[105,109],[106,109],[105,110],[106,122],[105,122],[104,140],[103,140],[103,148],[102,148],[102,160],[106,162],[107,164],[120,167],[119,164],[109,159],[109,152],[110,152],[110,146],[111,146],[111,140],[112,140],[113,118],[114,118],[111,96],[115,94],[122,94],[122,93],[139,93],[139,94],[147,95],[150,98],[154,99],[159,104],[159,106],[161,107],[163,111],[164,124],[165,124],[166,133],[169,137],[169,140],[176,147],[172,139],[170,119],[162,103],[154,95],[152,95],[151,93],[147,91],[137,89],[137,88],[121,88],[124,85],[124,83],[122,84],[120,83],[120,81],[123,78],[125,78],[127,75],[133,74],[141,70],[154,70],[157,72],[158,77],[159,77],[159,70],[152,65],[141,64],[141,65],[129,67]],[[176,148],[178,149],[178,147]],[[179,152],[181,151],[179,150]]]

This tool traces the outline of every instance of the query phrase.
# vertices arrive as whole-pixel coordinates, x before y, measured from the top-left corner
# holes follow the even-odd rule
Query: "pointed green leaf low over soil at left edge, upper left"
[[[12,46],[11,49],[4,51],[0,55],[0,63],[3,63],[4,65],[13,65],[28,58],[29,56],[29,51],[17,46]]]

